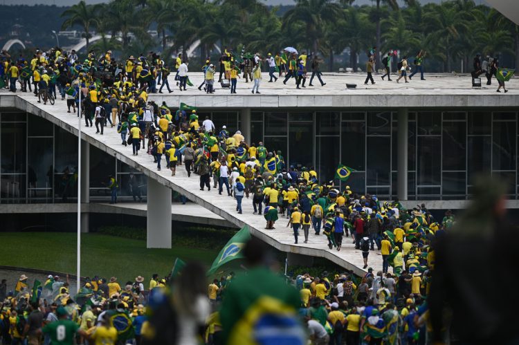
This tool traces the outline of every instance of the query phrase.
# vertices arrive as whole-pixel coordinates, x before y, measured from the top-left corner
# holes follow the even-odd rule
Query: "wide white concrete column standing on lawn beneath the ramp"
[[[171,248],[171,189],[148,177],[146,248]]]

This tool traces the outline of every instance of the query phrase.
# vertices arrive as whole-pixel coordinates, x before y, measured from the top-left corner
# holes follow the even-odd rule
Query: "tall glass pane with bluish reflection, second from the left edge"
[[[28,188],[49,188],[53,182],[53,138],[28,138]]]

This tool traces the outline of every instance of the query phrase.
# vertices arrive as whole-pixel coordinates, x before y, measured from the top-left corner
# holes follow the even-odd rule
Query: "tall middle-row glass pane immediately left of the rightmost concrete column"
[[[389,137],[367,138],[366,185],[390,185],[391,142]]]

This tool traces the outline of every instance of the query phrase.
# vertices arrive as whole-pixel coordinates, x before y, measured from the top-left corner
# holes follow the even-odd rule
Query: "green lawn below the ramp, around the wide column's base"
[[[82,277],[118,277],[133,281],[138,275],[146,281],[153,273],[168,274],[179,257],[197,260],[208,268],[218,254],[175,246],[172,249],[146,249],[146,242],[102,234],[82,234]],[[0,232],[0,263],[24,268],[75,273],[76,235],[58,232]]]

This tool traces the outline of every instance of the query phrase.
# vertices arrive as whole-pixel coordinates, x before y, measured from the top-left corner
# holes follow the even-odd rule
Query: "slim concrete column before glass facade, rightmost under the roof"
[[[397,128],[397,195],[399,200],[408,200],[408,123],[407,108],[399,108]]]

